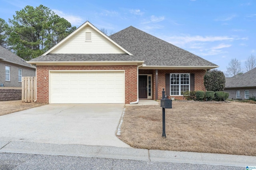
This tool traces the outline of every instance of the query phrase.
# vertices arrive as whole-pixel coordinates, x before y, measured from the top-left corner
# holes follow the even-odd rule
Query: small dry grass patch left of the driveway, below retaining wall
[[[16,111],[22,111],[30,109],[33,107],[46,105],[44,103],[25,103],[21,100],[12,100],[12,101],[1,101],[0,102],[0,116],[6,115],[9,113],[14,113]]]

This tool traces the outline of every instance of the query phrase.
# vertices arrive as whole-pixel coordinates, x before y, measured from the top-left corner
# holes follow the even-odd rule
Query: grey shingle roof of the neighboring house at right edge
[[[256,68],[232,78],[226,78],[225,88],[256,87]]]

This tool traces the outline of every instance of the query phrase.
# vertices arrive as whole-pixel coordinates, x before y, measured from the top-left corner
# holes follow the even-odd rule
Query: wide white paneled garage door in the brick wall
[[[124,71],[50,71],[49,77],[49,103],[124,103]]]

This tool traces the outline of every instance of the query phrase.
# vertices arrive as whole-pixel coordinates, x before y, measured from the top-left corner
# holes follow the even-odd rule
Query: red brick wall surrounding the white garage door
[[[125,103],[137,100],[137,66],[37,66],[37,102],[49,102],[49,70],[125,70]]]

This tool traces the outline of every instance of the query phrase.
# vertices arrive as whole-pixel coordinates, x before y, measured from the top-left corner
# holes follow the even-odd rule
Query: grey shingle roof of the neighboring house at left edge
[[[21,66],[34,68],[30,64],[28,64],[26,61],[24,61],[22,58],[20,58],[18,55],[15,55],[11,51],[9,51],[8,49],[5,49],[0,45],[0,61],[1,60],[8,63],[13,63]]]

